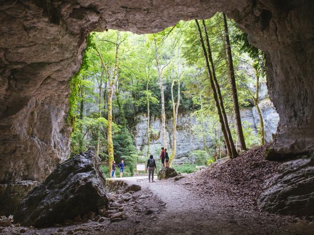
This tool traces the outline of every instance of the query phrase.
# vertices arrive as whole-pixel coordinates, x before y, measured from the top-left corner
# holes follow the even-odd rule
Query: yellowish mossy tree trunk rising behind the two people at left
[[[113,70],[113,77],[109,80],[109,92],[108,92],[108,118],[107,118],[107,141],[108,141],[108,161],[109,161],[109,172],[112,171],[113,158],[113,141],[112,141],[112,94],[115,80],[118,78],[118,62],[119,62],[119,45],[120,45],[120,32],[117,33],[116,42],[116,56]]]

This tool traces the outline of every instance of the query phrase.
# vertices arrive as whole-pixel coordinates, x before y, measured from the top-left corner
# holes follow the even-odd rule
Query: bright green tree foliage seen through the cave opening
[[[226,50],[223,35],[221,13],[205,21],[218,82],[221,86],[225,109],[231,117],[233,102],[226,63]],[[251,63],[249,56],[255,62],[261,74],[264,72],[264,54],[248,44],[247,35],[239,30],[233,21],[229,21],[235,66],[237,93],[241,107],[250,105],[248,96],[252,77],[243,71],[243,62]],[[126,163],[126,174],[132,175],[136,162],[143,159],[135,148],[134,128],[139,114],[147,113],[147,103],[150,104],[150,116],[160,117],[161,95],[158,84],[157,64],[155,56],[155,41],[159,54],[159,64],[163,68],[162,84],[165,95],[165,113],[167,119],[172,117],[171,84],[172,78],[181,75],[180,89],[178,82],[174,83],[174,99],[181,95],[179,114],[189,113],[196,118],[196,125],[190,127],[200,141],[205,141],[204,150],[191,152],[196,155],[196,164],[209,164],[210,156],[215,149],[223,149],[223,138],[220,133],[217,112],[212,97],[208,74],[205,70],[202,48],[200,47],[195,22],[179,22],[177,25],[151,35],[136,35],[131,32],[121,32],[119,45],[118,77],[113,77],[117,31],[93,32],[89,34],[82,65],[71,78],[68,122],[73,124],[71,134],[72,155],[97,145],[100,133],[100,157],[107,164],[107,93],[108,82],[114,80],[112,101],[113,113],[113,144],[114,159]],[[103,63],[102,63],[102,59]],[[100,93],[102,90],[102,93]],[[244,126],[244,137],[247,145],[256,143],[249,125]],[[150,127],[151,140],[159,138],[159,130]],[[235,140],[237,135],[233,132]],[[206,146],[206,140],[212,140],[214,146]],[[153,153],[158,155],[160,149]],[[146,156],[147,157],[147,156]],[[158,167],[160,161],[157,159]],[[195,165],[183,164],[181,172],[195,171]],[[102,169],[108,174],[107,165]]]

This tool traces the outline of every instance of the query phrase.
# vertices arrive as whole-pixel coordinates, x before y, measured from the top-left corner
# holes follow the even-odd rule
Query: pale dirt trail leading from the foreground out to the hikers
[[[147,235],[313,235],[314,223],[266,212],[238,210],[223,200],[207,200],[173,180],[149,183],[139,177],[123,178],[149,188],[166,203]],[[200,186],[201,187],[201,186]],[[226,198],[228,195],[226,195]]]

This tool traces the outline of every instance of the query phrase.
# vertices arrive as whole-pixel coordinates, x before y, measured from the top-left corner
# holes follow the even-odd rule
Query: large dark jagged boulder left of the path
[[[94,150],[71,157],[33,188],[14,220],[24,226],[49,227],[90,211],[107,208],[105,177]]]

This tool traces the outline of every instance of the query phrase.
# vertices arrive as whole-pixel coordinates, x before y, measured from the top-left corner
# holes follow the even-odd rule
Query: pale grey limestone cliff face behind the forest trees
[[[269,99],[268,99],[269,101]],[[260,102],[261,104],[261,102]],[[265,141],[272,141],[272,135],[276,134],[278,125],[278,114],[272,106],[268,104],[261,106],[262,116],[265,121]],[[249,126],[252,130],[252,135],[257,136],[257,126],[260,124],[258,115],[255,113],[255,108],[247,107],[240,110],[241,121],[243,126]],[[137,150],[141,150],[143,154],[147,152],[147,116],[140,115],[137,117],[138,123],[135,127],[135,145]],[[232,120],[234,122],[234,120]],[[151,118],[150,120],[153,135],[151,135],[150,153],[155,157],[159,157],[160,147],[162,146],[162,139],[160,137],[161,120],[160,118]],[[167,135],[167,148],[169,154],[172,152],[172,123],[173,119],[166,121],[166,135]],[[207,136],[205,139],[197,134],[197,126],[200,123],[196,118],[191,117],[189,114],[179,115],[177,125],[177,153],[175,164],[182,163],[194,163],[195,155],[192,154],[193,150],[204,150],[204,141],[207,148],[211,148],[214,145],[214,139]],[[219,125],[217,125],[219,127]],[[201,128],[201,126],[200,126]],[[205,129],[213,128],[213,123],[207,122],[204,125]],[[219,133],[221,135],[221,133]]]

